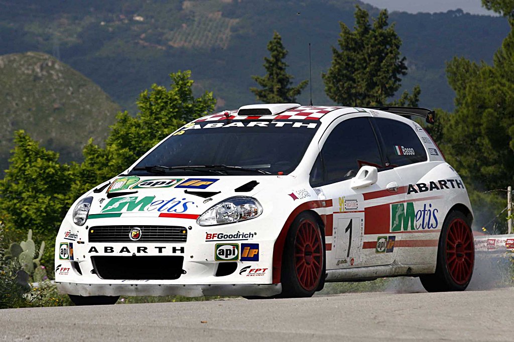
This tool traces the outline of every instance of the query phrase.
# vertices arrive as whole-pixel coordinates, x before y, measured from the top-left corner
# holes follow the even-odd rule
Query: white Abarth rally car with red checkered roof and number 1
[[[77,304],[119,295],[308,297],[327,281],[419,276],[466,289],[471,205],[410,116],[265,104],[197,119],[84,194],[56,240]]]

